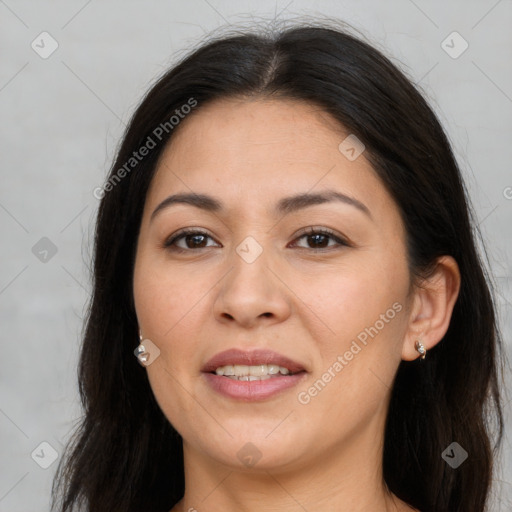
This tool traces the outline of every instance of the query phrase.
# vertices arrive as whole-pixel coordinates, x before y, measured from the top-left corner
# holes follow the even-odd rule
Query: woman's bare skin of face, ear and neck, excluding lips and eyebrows
[[[348,133],[311,104],[229,99],[199,105],[179,126],[147,194],[137,246],[134,298],[143,338],[160,356],[147,366],[155,397],[183,437],[186,491],[172,512],[413,510],[382,474],[390,387],[401,360],[445,334],[460,287],[451,257],[418,287],[407,266],[397,205],[366,160],[338,149]],[[285,196],[327,189],[364,203],[330,202],[275,216]],[[156,206],[170,194],[204,193],[207,212]],[[329,228],[339,245],[303,236]],[[207,238],[163,247],[184,227]],[[253,237],[262,253],[236,252]],[[197,248],[199,246],[199,248]],[[402,310],[310,402],[298,401],[365,328],[394,303]],[[202,365],[229,348],[268,348],[308,370],[296,388],[260,402],[207,386]],[[428,358],[428,354],[427,354]],[[261,458],[237,457],[253,443]]]

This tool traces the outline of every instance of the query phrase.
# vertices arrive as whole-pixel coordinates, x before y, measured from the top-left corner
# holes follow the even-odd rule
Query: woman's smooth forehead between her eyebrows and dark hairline
[[[148,207],[176,192],[268,209],[291,192],[337,189],[373,208],[391,198],[364,157],[339,146],[350,134],[314,104],[283,99],[226,99],[182,121],[159,160]]]

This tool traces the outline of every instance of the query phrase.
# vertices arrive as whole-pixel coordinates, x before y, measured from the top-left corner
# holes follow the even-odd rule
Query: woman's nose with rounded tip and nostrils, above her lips
[[[213,306],[218,321],[254,328],[283,322],[290,316],[291,292],[265,253],[248,263],[234,252]]]

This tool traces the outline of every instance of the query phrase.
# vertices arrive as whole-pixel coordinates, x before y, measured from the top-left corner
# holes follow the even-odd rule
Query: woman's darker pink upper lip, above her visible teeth
[[[214,372],[220,366],[227,365],[258,366],[260,364],[277,364],[287,368],[290,373],[305,371],[305,368],[289,357],[272,350],[252,350],[250,352],[240,349],[229,349],[215,354],[202,368],[202,372]]]

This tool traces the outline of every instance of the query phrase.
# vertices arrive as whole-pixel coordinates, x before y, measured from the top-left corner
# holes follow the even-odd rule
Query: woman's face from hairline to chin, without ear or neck
[[[256,454],[275,469],[379,443],[410,275],[398,208],[364,152],[354,159],[351,139],[340,149],[348,135],[310,104],[230,99],[199,105],[162,154],[133,292],[143,338],[160,350],[151,388],[189,453],[240,468]],[[175,194],[213,202],[152,215]],[[302,194],[325,200],[284,201]],[[292,366],[282,356],[302,371],[202,371],[230,349],[275,355],[221,366],[266,362],[267,374]]]

